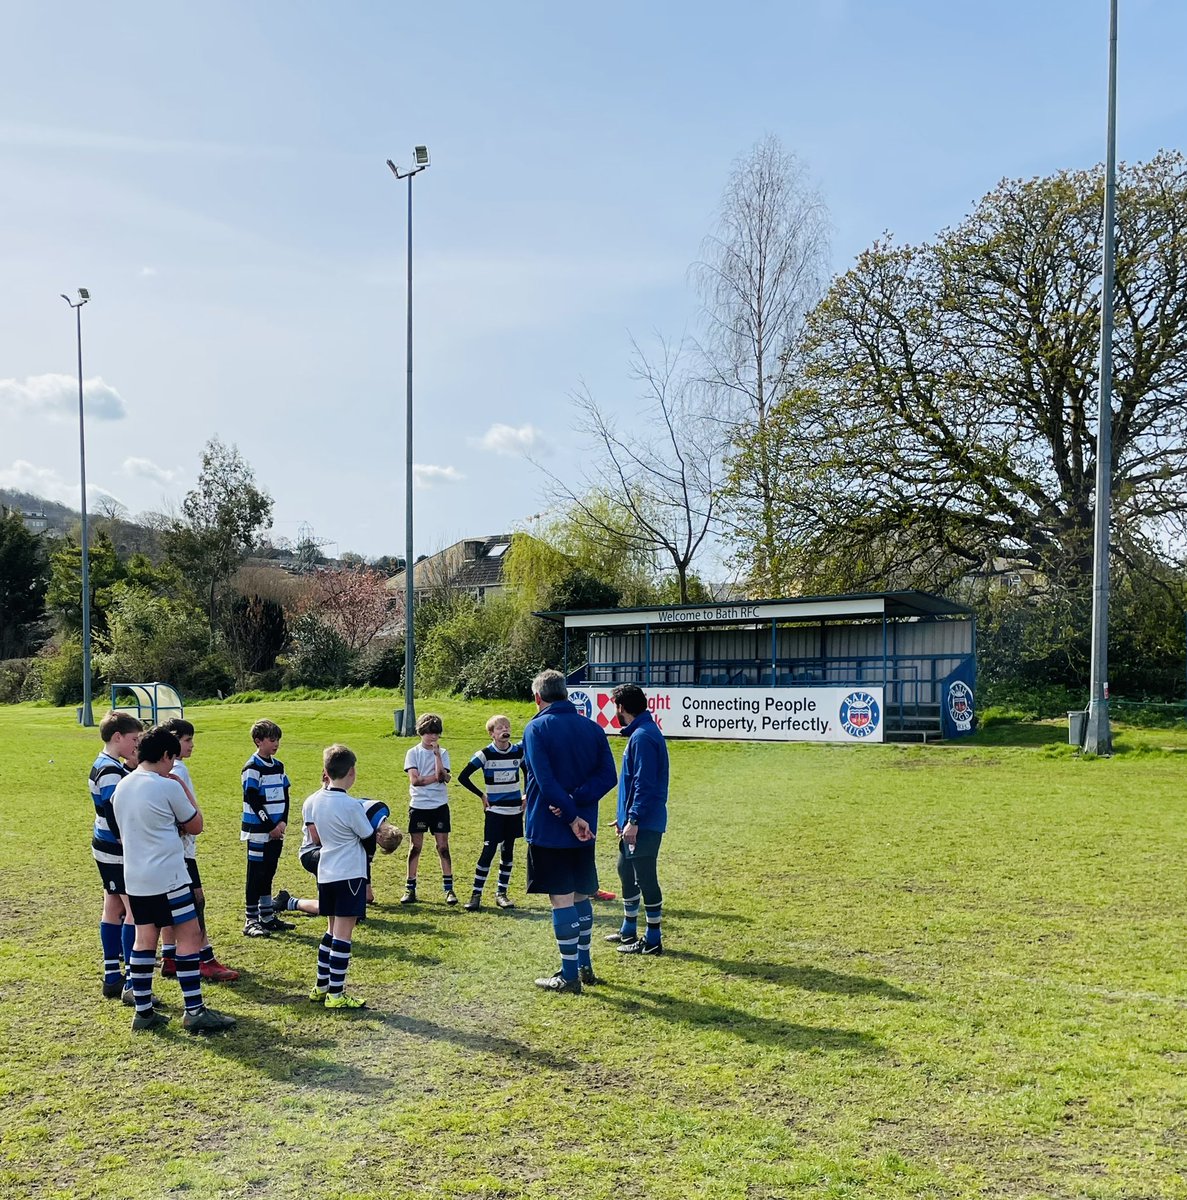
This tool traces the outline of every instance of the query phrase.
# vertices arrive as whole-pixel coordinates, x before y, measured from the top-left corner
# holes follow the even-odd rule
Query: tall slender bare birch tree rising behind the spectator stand
[[[779,467],[763,446],[771,407],[795,384],[793,348],[820,299],[827,268],[825,203],[804,164],[777,137],[767,137],[735,163],[718,228],[693,266],[707,325],[705,382],[718,419],[736,448],[759,448],[749,475],[754,491],[747,497],[759,508],[750,564],[750,584],[759,594],[778,593],[790,582],[773,503]],[[723,512],[732,508],[727,503]]]

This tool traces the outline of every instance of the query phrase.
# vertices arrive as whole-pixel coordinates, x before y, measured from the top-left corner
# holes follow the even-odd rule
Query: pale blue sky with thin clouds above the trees
[[[431,10],[431,11],[430,11]],[[844,270],[1005,176],[1104,154],[1107,0],[30,5],[0,72],[0,486],[176,504],[212,434],[338,551],[403,550],[404,164],[416,552],[581,473],[568,395],[629,421],[629,338],[693,332],[730,164],[777,134]],[[1187,144],[1181,0],[1121,0],[1119,154]],[[101,383],[100,383],[101,380]],[[500,428],[502,427],[502,428]],[[331,547],[332,548],[332,547]]]

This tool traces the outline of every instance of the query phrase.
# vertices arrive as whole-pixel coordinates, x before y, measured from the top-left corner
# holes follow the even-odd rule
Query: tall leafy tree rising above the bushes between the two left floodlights
[[[164,534],[166,551],[203,598],[214,637],[218,589],[272,523],[272,498],[238,448],[211,438],[202,451],[198,486]]]

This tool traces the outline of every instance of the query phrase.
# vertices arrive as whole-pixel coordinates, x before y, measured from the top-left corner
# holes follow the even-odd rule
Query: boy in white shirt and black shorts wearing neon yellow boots
[[[367,852],[374,833],[362,805],[350,794],[358,758],[348,746],[328,746],[322,755],[328,782],[302,808],[310,842],[320,846],[317,858],[317,906],[326,918],[317,948],[313,1003],[326,1008],[365,1008],[366,1001],[346,994],[354,926],[367,912]]]

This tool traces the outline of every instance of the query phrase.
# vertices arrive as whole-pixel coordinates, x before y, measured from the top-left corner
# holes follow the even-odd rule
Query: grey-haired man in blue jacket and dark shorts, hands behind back
[[[570,703],[559,671],[541,671],[532,695],[539,712],[523,731],[527,889],[547,894],[560,949],[560,970],[535,983],[580,994],[582,983],[597,983],[589,898],[598,890],[598,802],[618,776],[606,734]]]

